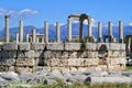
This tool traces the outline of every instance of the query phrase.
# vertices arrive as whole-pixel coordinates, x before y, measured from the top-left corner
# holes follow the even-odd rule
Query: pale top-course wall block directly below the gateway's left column
[[[65,43],[66,51],[80,51],[80,43]]]

